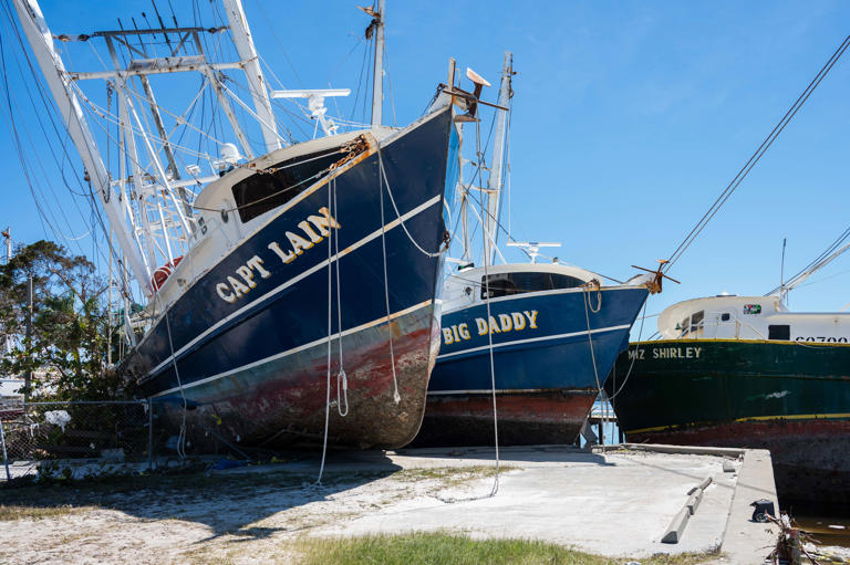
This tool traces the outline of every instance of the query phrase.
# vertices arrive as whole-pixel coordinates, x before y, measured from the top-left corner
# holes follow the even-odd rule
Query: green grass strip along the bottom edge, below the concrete
[[[610,558],[531,540],[471,540],[447,533],[303,538],[301,565],[621,565]],[[642,565],[696,565],[712,554],[655,555]]]

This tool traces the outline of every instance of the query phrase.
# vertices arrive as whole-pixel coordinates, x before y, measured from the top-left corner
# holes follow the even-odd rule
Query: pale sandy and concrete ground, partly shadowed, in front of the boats
[[[509,469],[493,498],[486,450],[336,456],[323,485],[311,483],[317,469],[308,461],[97,500],[81,489],[66,513],[0,522],[0,563],[287,563],[300,536],[413,530],[542,538],[615,556],[709,551],[723,538],[735,483],[723,458],[502,454]],[[687,490],[708,475],[714,483],[683,543],[661,544]]]

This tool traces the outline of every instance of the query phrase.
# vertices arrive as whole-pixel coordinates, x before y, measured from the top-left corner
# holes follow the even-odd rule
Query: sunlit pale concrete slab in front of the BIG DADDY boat
[[[501,450],[502,464],[514,470],[501,475],[495,496],[486,496],[493,480],[483,478],[429,499],[400,500],[311,534],[443,530],[473,537],[539,538],[609,556],[707,552],[724,542],[736,490],[737,478],[723,471],[728,456],[645,450],[602,454],[553,446],[507,448]],[[332,460],[328,469],[338,464],[350,469],[350,459],[359,457]],[[402,469],[493,465],[491,457],[493,449],[404,450],[387,453],[383,464],[390,462]],[[688,491],[707,477],[712,482],[682,540],[663,544],[661,537],[685,506]],[[450,500],[458,502],[445,502]],[[742,551],[747,545],[756,553],[754,544],[745,544],[744,540],[740,543]]]

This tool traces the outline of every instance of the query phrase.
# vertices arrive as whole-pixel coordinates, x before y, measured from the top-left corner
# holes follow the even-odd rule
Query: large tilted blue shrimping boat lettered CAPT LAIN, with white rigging
[[[222,0],[227,20],[217,27],[180,27],[174,17],[173,27],[159,18],[159,28],[138,29],[134,20],[132,29],[60,36],[35,0],[13,3],[121,264],[146,301],[131,316],[126,297],[132,349],[122,363],[145,395],[173,421],[231,442],[407,443],[439,345],[446,193],[459,170],[453,100],[475,97],[442,92],[407,127],[381,125],[383,2],[367,10],[372,124],[344,133],[324,98],[349,91],[270,92],[239,0]],[[111,65],[69,71],[56,39],[99,42]],[[235,60],[205,49],[214,41],[225,56],[229,40]],[[250,103],[230,71],[243,71]],[[191,83],[189,109],[169,112],[154,83],[182,73],[199,74],[201,86]],[[116,111],[84,93],[91,80],[106,81]],[[186,84],[159,93],[174,100]],[[203,117],[188,128],[201,94],[226,117],[221,130],[204,130]],[[292,142],[274,98],[304,101],[299,111],[324,136]],[[250,128],[239,115],[252,118]],[[90,127],[97,118],[101,130]],[[220,134],[218,155],[189,151],[186,130],[201,140]],[[104,159],[103,144],[120,157]]]

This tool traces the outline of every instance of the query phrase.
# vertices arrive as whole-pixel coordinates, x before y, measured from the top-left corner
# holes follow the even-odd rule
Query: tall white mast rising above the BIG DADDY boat
[[[501,65],[501,84],[499,84],[499,102],[501,107],[508,107],[512,96],[510,80],[514,75],[514,54],[505,52],[505,62]],[[487,179],[487,216],[483,218],[483,227],[490,236],[485,238],[484,260],[493,264],[496,258],[496,244],[499,240],[499,212],[501,210],[501,177],[505,165],[505,142],[507,138],[508,113],[497,111],[495,145],[493,147],[493,166]]]

